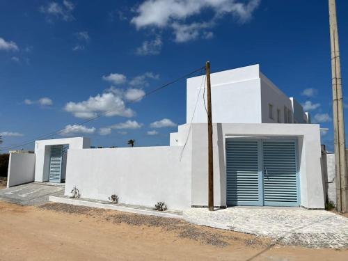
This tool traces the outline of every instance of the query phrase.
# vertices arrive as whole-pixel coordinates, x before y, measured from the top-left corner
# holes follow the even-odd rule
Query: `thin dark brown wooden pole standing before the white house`
[[[214,211],[214,172],[213,172],[213,126],[212,126],[212,88],[210,85],[210,63],[205,63],[207,73],[207,113],[208,113],[208,207]]]

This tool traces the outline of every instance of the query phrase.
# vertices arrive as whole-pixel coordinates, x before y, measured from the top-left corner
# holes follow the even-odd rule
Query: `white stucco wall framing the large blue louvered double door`
[[[207,205],[207,125],[192,127],[191,204]],[[225,140],[228,137],[292,137],[298,140],[301,206],[324,208],[319,125],[214,124],[214,205],[226,206]]]

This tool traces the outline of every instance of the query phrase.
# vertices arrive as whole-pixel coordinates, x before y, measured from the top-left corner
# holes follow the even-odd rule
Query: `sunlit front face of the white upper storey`
[[[207,122],[203,102],[203,77],[205,76],[187,79],[187,123],[191,122],[199,91],[192,122]],[[211,85],[213,122],[261,123],[259,65],[213,73]]]

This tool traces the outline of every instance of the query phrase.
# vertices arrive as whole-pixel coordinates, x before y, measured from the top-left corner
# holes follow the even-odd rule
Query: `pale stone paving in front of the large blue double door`
[[[229,207],[209,212],[192,208],[184,219],[198,225],[272,237],[278,244],[348,248],[348,219],[324,210]]]

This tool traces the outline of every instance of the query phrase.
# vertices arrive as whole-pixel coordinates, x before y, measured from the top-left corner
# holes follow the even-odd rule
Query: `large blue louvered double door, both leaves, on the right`
[[[296,141],[226,140],[228,205],[299,205]]]

